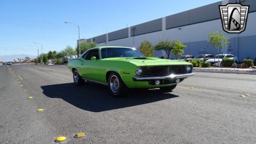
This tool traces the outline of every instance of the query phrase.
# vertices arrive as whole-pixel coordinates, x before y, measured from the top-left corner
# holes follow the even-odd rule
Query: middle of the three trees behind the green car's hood
[[[154,46],[154,49],[156,51],[161,51],[161,50],[165,51],[166,57],[170,58],[170,54],[171,54],[173,47],[174,47],[174,42],[172,40],[166,40],[166,41],[162,40]]]

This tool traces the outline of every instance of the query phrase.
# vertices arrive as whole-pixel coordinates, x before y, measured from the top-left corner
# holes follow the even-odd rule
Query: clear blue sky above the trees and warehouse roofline
[[[0,55],[37,55],[36,43],[43,51],[61,51],[76,46],[78,24],[81,38],[183,12],[216,0],[1,0]],[[39,46],[39,45],[38,45]]]

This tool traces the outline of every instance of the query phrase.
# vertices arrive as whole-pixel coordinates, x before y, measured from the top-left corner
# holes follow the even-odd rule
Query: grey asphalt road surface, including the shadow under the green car
[[[73,138],[78,132],[84,138]],[[58,136],[63,143],[256,143],[256,76],[196,72],[172,93],[116,99],[106,86],[74,86],[65,66],[1,65],[0,143]]]

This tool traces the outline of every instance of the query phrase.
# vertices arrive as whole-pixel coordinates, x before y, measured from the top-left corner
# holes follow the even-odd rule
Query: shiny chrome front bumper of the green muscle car
[[[161,77],[132,77],[133,81],[152,81],[152,80],[162,80],[162,79],[182,79],[186,77],[193,76],[194,73],[189,74],[170,74],[168,76]]]

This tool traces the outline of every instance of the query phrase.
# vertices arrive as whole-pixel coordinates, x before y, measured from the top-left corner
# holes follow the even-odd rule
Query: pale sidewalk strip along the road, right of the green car
[[[194,72],[220,72],[228,74],[255,74],[256,68],[221,68],[221,67],[209,67],[209,68],[193,68]]]

